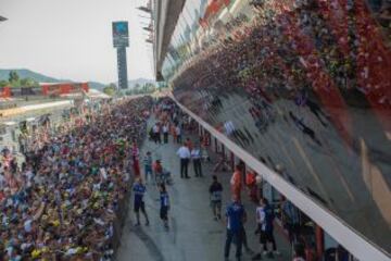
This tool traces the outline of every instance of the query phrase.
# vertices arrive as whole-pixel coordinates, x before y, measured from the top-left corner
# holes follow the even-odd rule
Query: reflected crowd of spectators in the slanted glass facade
[[[226,30],[215,30],[203,52],[184,65],[174,78],[177,95],[189,86],[216,96],[222,89],[244,90],[255,122],[268,119],[256,111],[265,111],[275,100],[301,100],[295,104],[308,107],[326,127],[317,110],[321,103],[327,120],[344,138],[344,109],[362,97],[389,128],[391,52],[389,36],[370,11],[373,2],[252,1],[254,14],[239,15]],[[390,3],[380,2],[384,16]],[[193,99],[182,102],[198,107]]]

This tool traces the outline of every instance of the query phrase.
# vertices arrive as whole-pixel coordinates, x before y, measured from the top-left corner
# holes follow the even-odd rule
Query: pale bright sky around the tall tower
[[[153,78],[142,30],[146,0],[0,0],[0,69],[72,80],[117,82],[112,22],[129,22],[128,78]]]

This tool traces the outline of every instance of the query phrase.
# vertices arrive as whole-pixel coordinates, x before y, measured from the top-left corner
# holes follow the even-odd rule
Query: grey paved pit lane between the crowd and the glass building
[[[195,137],[192,140],[195,140]],[[178,147],[178,145],[173,144],[172,137],[169,137],[169,144],[167,145],[154,145],[149,140],[144,142],[141,153],[144,154],[149,150],[153,152],[154,158],[162,157],[163,166],[171,170],[174,176],[175,184],[167,187],[172,203],[169,211],[171,227],[167,232],[160,220],[160,202],[156,187],[152,184],[147,185],[146,209],[151,224],[150,226],[134,227],[135,214],[133,208],[129,208],[117,261],[224,260],[225,224],[223,221],[213,220],[209,206],[207,190],[212,183],[213,164],[203,163],[204,177],[194,177],[192,165],[190,165],[191,178],[182,179],[179,177],[179,160],[175,154]],[[224,206],[230,200],[230,175],[231,173],[217,173],[225,188]],[[255,231],[255,206],[252,202],[244,202],[244,206],[249,215],[249,221],[245,224],[249,246],[251,249],[258,251],[257,236],[253,233]],[[141,224],[143,224],[142,215]],[[279,235],[276,236],[277,246],[282,254],[275,257],[274,260],[290,260],[286,239],[282,239]],[[251,260],[251,257],[252,254],[247,254],[243,251],[242,260]],[[230,260],[235,260],[234,245],[231,246]],[[268,259],[264,258],[264,260]]]

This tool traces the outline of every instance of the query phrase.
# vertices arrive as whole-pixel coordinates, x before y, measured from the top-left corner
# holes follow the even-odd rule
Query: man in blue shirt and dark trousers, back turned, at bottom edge
[[[236,258],[237,260],[240,260],[241,248],[242,248],[242,227],[247,220],[247,214],[243,206],[240,203],[236,195],[232,197],[232,202],[227,207],[226,217],[227,217],[227,239],[226,239],[224,256],[225,259],[228,260],[230,245],[232,243],[232,239],[235,238],[237,245]]]

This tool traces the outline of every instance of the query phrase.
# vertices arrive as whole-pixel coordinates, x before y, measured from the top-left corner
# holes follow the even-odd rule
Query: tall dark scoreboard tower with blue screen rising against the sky
[[[117,51],[118,89],[127,89],[126,48],[129,47],[128,23],[113,22],[113,46]]]

